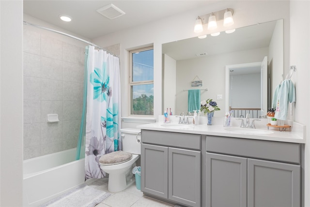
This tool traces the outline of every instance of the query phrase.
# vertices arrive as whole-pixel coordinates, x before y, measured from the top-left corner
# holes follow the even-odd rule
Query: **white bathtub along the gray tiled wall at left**
[[[24,160],[23,206],[40,206],[85,181],[85,159],[76,148]]]

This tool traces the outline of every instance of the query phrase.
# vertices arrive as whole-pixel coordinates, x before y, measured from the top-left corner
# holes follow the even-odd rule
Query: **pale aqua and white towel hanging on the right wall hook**
[[[290,79],[283,80],[278,93],[275,118],[286,120],[289,102],[292,103],[295,101],[296,93],[294,83]]]

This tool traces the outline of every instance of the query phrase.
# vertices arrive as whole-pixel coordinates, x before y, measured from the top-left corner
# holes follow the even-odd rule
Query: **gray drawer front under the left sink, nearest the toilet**
[[[166,131],[141,130],[142,143],[200,150],[201,135]]]

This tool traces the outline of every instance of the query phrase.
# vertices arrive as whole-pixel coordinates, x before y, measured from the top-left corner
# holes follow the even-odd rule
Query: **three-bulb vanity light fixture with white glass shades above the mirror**
[[[223,26],[228,27],[233,25],[233,9],[227,8],[211,14],[198,16],[196,18],[194,32],[203,31],[202,25],[208,24],[208,30],[217,29],[217,21],[223,20]]]

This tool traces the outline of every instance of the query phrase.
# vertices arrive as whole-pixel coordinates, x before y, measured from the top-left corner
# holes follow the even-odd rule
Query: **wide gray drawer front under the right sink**
[[[207,136],[207,152],[300,164],[300,144]]]

